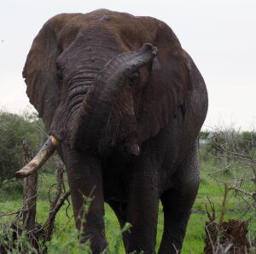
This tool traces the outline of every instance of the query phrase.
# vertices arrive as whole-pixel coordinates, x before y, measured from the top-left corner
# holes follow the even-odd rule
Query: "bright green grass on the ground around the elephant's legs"
[[[209,173],[216,170],[216,165],[213,159],[208,159],[207,162],[201,162],[201,185],[193,212],[190,216],[189,225],[187,228],[187,234],[183,243],[183,254],[202,253],[204,248],[204,225],[207,221],[207,214],[205,212],[205,205],[208,205],[209,197],[215,205],[216,216],[218,218],[223,201],[224,185],[221,182],[216,182],[209,176]],[[229,174],[221,174],[221,179],[229,180]],[[39,193],[38,193],[38,213],[37,221],[45,222],[49,213],[49,201],[48,190],[49,187],[55,182],[55,176],[50,174],[40,174],[39,177]],[[248,188],[251,188],[250,186]],[[22,203],[22,188],[17,182],[12,182],[9,185],[3,186],[0,189],[0,213],[13,212],[20,209]],[[67,203],[67,202],[66,202]],[[53,240],[49,244],[49,253],[79,253],[81,251],[78,247],[77,234],[73,222],[72,206],[67,208],[67,204],[61,208],[55,221],[55,231]],[[224,219],[229,218],[250,220],[249,234],[252,238],[256,235],[256,220],[252,212],[245,211],[244,202],[241,200],[238,194],[230,191],[228,196],[227,211]],[[121,244],[121,233],[119,229],[119,223],[113,214],[113,211],[108,205],[105,205],[105,224],[108,242],[110,244],[110,252],[125,253],[124,247]],[[10,216],[0,216],[0,223],[10,220]],[[158,234],[157,234],[157,246],[160,245],[161,234],[163,232],[163,212],[160,205],[159,219],[158,219]],[[81,248],[81,247],[80,247]]]

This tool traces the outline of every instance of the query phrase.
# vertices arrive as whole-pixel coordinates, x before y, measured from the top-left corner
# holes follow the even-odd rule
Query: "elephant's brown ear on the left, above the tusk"
[[[29,101],[48,130],[61,97],[55,70],[56,58],[61,53],[57,38],[67,21],[77,15],[59,14],[44,24],[32,43],[22,72]]]

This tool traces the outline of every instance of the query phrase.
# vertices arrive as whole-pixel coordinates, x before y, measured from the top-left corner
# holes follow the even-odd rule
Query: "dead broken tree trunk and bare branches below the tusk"
[[[32,159],[32,152],[30,151],[29,147],[27,146],[26,141],[23,142],[22,145],[23,151],[24,151],[24,160],[25,163],[30,161]],[[61,163],[56,164],[56,171],[55,171],[55,178],[56,183],[53,184],[49,188],[49,193],[53,187],[56,187],[55,190],[55,196],[53,199],[49,198],[49,216],[46,222],[44,223],[44,226],[38,224],[35,222],[36,217],[36,202],[37,202],[37,196],[38,196],[38,185],[37,180],[38,177],[36,176],[29,176],[24,181],[24,199],[23,199],[23,205],[20,208],[19,211],[11,212],[11,213],[5,213],[0,214],[0,216],[15,216],[15,220],[11,223],[11,227],[14,228],[15,234],[20,235],[23,231],[26,232],[26,235],[28,239],[30,240],[31,244],[37,251],[37,253],[43,253],[42,251],[44,249],[44,244],[51,239],[51,235],[53,233],[54,224],[55,224],[55,216],[57,215],[58,211],[60,211],[61,206],[64,205],[65,201],[67,200],[68,204],[69,200],[68,197],[70,195],[70,191],[66,191],[65,183],[64,183],[64,168]],[[69,206],[68,205],[68,206]],[[67,209],[66,209],[67,213]],[[23,218],[23,220],[22,220]],[[21,225],[20,225],[21,222]],[[8,236],[9,237],[9,236]],[[12,237],[12,236],[11,236]],[[43,241],[40,241],[43,240]],[[14,242],[14,240],[10,240],[11,243]],[[0,252],[3,250],[12,250],[12,247],[9,245],[2,245],[0,242]],[[7,249],[6,249],[7,248]],[[43,249],[42,249],[43,248]],[[26,250],[21,250],[21,253],[25,253]]]

